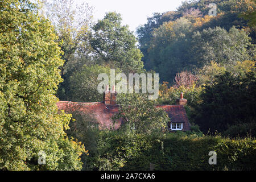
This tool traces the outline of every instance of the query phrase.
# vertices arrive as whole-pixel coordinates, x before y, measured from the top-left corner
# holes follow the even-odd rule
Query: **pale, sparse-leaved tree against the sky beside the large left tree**
[[[47,17],[59,36],[58,42],[63,51],[61,58],[65,60],[64,65],[76,56],[75,53],[83,52],[86,55],[91,51],[88,40],[92,7],[82,3],[82,5],[76,5],[74,9],[73,4],[73,0],[56,0],[47,6]]]

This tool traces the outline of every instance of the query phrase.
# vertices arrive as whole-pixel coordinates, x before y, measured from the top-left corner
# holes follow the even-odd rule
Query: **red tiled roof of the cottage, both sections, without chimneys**
[[[100,123],[101,128],[112,127],[112,116],[118,113],[118,105],[105,105],[103,102],[57,102],[59,110],[64,110],[65,113],[78,112],[82,114],[92,114]],[[163,108],[168,117],[170,117],[173,123],[183,123],[184,131],[190,129],[187,114],[183,105],[157,105],[158,108]],[[115,123],[114,129],[118,129],[121,126],[122,119],[119,119],[118,123]]]

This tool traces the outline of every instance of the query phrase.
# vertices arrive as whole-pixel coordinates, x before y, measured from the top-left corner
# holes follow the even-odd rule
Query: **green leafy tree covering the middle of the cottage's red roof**
[[[146,94],[119,94],[119,113],[115,119],[123,118],[121,130],[127,133],[152,134],[164,131],[170,121],[166,111],[156,108],[156,101],[147,100]]]

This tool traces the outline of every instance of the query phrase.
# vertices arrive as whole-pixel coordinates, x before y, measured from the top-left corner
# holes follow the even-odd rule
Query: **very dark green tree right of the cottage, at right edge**
[[[245,77],[229,72],[216,76],[205,85],[200,96],[203,102],[195,109],[195,122],[204,132],[209,129],[224,132],[238,123],[253,122],[255,125],[255,86],[255,72],[249,72]]]

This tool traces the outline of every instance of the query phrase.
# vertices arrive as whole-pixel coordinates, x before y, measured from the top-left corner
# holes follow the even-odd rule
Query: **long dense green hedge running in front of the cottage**
[[[98,155],[90,166],[98,170],[255,170],[255,140],[220,136],[179,136],[174,133],[150,136],[101,131]],[[208,155],[216,151],[217,164]]]

